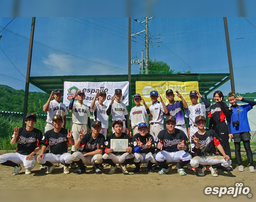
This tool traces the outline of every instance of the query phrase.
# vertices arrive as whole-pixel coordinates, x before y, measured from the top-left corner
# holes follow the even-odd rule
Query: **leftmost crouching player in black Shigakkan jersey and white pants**
[[[4,166],[14,167],[12,175],[18,175],[23,163],[25,166],[25,174],[31,174],[31,170],[35,167],[36,152],[41,148],[42,132],[36,128],[36,115],[27,114],[25,119],[26,127],[14,128],[14,133],[10,144],[18,142],[16,153],[7,153],[0,156],[0,164]]]

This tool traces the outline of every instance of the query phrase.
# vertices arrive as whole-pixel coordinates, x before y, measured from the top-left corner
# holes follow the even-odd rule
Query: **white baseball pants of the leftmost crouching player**
[[[36,155],[33,156],[32,160],[26,160],[27,155],[22,155],[18,152],[7,153],[0,156],[0,163],[5,163],[6,161],[12,161],[13,163],[23,163],[24,167],[28,170],[32,170],[35,167]]]

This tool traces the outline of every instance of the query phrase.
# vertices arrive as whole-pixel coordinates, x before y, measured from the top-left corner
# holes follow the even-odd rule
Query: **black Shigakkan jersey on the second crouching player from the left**
[[[54,132],[54,128],[48,130],[42,139],[44,146],[50,146],[53,154],[63,154],[68,151],[69,139],[67,139],[67,129],[61,128],[60,132]]]

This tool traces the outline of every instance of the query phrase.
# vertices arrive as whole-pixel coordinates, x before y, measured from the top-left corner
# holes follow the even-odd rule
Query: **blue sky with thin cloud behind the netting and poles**
[[[134,19],[144,21],[132,17],[132,33],[144,30],[145,23]],[[1,17],[1,30],[11,20]],[[227,20],[236,92],[255,92],[256,18]],[[0,33],[0,84],[25,88],[30,26],[31,18],[16,17]],[[149,20],[149,33],[149,57],[163,60],[175,71],[229,72],[222,17],[155,17]],[[141,59],[144,36],[132,37],[131,59]],[[127,60],[127,17],[36,17],[31,76],[128,74]],[[138,64],[131,69],[132,74],[139,73]],[[220,90],[227,94],[230,82]],[[38,89],[31,85],[30,91]]]

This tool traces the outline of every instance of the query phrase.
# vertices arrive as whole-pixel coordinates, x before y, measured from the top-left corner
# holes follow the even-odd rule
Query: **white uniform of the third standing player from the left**
[[[94,121],[101,122],[101,131],[102,135],[107,136],[107,129],[109,128],[109,116],[107,115],[107,106],[105,104],[101,105],[99,102],[96,102],[94,108],[91,109],[94,115]]]

